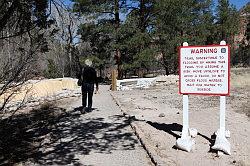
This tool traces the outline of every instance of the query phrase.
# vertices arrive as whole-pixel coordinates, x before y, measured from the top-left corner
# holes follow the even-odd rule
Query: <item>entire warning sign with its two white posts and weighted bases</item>
[[[225,137],[225,96],[229,95],[230,75],[229,53],[229,46],[225,41],[220,45],[209,46],[188,46],[185,42],[183,47],[179,48],[179,93],[183,94],[183,130],[182,137],[177,140],[177,147],[183,149],[183,142],[185,146],[189,144],[189,147],[194,144],[190,140],[188,125],[188,95],[220,95],[220,129],[217,132],[218,139],[216,138],[212,148],[230,154],[230,143]],[[189,151],[187,148],[183,150]]]

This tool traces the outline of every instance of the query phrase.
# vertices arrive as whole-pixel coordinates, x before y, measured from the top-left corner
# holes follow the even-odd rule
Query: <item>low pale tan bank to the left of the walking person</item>
[[[0,104],[4,99],[14,92],[8,108],[18,107],[21,103],[26,105],[38,105],[43,101],[52,101],[64,97],[74,97],[80,95],[77,79],[57,78],[44,80],[29,80],[17,92],[12,89],[10,92],[0,96]]]

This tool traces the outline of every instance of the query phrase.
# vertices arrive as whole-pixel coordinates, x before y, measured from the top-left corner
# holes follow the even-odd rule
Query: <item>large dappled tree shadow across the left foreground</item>
[[[124,130],[129,121],[123,116],[108,122],[83,116],[77,109],[51,107],[0,121],[0,165],[81,165],[77,155],[134,149],[137,140]]]

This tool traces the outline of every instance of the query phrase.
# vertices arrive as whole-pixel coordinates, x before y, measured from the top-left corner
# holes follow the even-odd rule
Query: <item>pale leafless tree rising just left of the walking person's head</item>
[[[51,8],[51,18],[56,22],[54,28],[57,28],[58,32],[55,39],[60,44],[60,47],[54,48],[54,60],[63,76],[74,76],[74,50],[79,42],[79,35],[77,33],[81,18],[74,15],[71,11],[71,6],[64,4],[61,0],[54,0]],[[51,58],[51,57],[50,57]],[[65,71],[65,69],[68,71]]]

